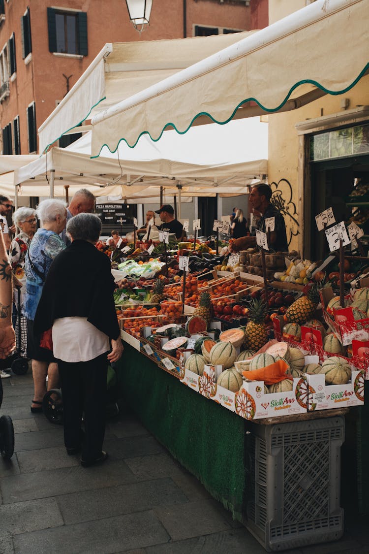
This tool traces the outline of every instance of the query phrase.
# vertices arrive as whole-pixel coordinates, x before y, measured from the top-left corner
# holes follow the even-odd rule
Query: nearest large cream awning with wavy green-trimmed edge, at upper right
[[[93,116],[92,156],[167,127],[225,124],[342,94],[369,68],[368,0],[317,0]]]

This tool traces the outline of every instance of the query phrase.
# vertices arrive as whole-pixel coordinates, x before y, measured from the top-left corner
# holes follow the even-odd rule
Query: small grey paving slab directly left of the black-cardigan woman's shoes
[[[80,456],[69,456],[64,446],[18,452],[17,458],[22,473],[69,468],[80,464]]]

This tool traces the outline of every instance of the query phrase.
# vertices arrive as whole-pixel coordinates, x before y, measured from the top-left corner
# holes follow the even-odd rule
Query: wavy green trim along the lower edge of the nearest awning
[[[290,90],[288,91],[288,94],[285,96],[284,100],[279,104],[279,106],[277,107],[274,107],[274,108],[267,108],[267,107],[264,107],[256,98],[253,98],[253,97],[250,97],[250,98],[246,98],[245,100],[242,100],[239,104],[237,104],[237,106],[235,107],[235,109],[233,110],[232,112],[232,115],[230,117],[228,117],[228,119],[226,119],[225,121],[217,121],[214,117],[212,117],[211,114],[209,114],[208,112],[206,111],[201,111],[199,112],[199,114],[195,115],[195,117],[191,120],[189,126],[187,127],[187,129],[185,131],[178,131],[178,129],[176,128],[176,126],[174,125],[174,123],[172,122],[169,122],[167,124],[164,125],[163,127],[163,130],[162,132],[160,133],[160,135],[158,136],[157,139],[153,139],[153,137],[150,135],[149,131],[142,131],[139,136],[138,136],[138,139],[137,141],[134,143],[133,146],[129,145],[127,140],[124,139],[122,137],[122,139],[119,139],[118,143],[117,143],[117,146],[114,150],[110,150],[110,147],[105,143],[101,146],[100,148],[100,151],[98,152],[98,154],[96,156],[91,156],[91,158],[98,158],[101,154],[101,151],[102,151],[102,148],[104,146],[106,146],[108,148],[108,150],[113,154],[117,151],[118,149],[118,146],[119,144],[121,143],[121,141],[124,141],[126,142],[127,146],[129,146],[129,148],[134,148],[136,145],[137,145],[137,142],[139,141],[139,139],[141,139],[141,136],[142,135],[149,135],[150,139],[153,141],[153,142],[158,142],[162,135],[163,135],[163,132],[165,131],[165,129],[167,129],[167,127],[173,127],[173,129],[178,132],[179,135],[185,135],[185,133],[190,129],[190,127],[193,125],[193,122],[200,116],[202,115],[205,115],[207,117],[209,117],[209,119],[211,119],[214,123],[217,123],[218,125],[226,125],[227,123],[229,123],[233,117],[235,116],[236,114],[236,111],[238,110],[238,108],[240,108],[241,106],[243,106],[243,104],[246,104],[246,102],[250,102],[250,101],[253,101],[253,102],[256,102],[257,105],[259,107],[261,107],[262,110],[272,114],[273,112],[277,112],[278,110],[280,110],[280,108],[282,106],[284,106],[284,104],[288,101],[290,95],[293,93],[293,91],[295,89],[297,89],[298,86],[300,85],[304,85],[304,84],[311,84],[311,85],[314,85],[316,86],[316,88],[320,89],[320,90],[324,90],[327,94],[330,94],[330,95],[334,95],[334,96],[337,96],[337,95],[340,95],[340,94],[345,94],[348,90],[352,89],[353,86],[355,86],[358,81],[360,81],[360,79],[362,78],[363,75],[365,75],[366,71],[368,71],[369,69],[369,63],[367,63],[365,65],[365,68],[362,69],[362,71],[360,71],[360,73],[358,74],[358,76],[356,77],[356,79],[354,81],[352,81],[352,83],[349,85],[349,86],[346,86],[345,89],[342,89],[342,90],[339,90],[339,91],[334,91],[334,90],[329,90],[329,89],[326,89],[325,86],[319,84],[317,81],[314,81],[313,79],[304,79],[302,81],[298,81],[297,83],[295,83],[291,88]]]

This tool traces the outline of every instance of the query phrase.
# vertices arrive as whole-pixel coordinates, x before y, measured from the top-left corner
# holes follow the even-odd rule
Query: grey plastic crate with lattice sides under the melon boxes
[[[268,552],[340,538],[345,419],[253,424],[250,429],[247,529]]]

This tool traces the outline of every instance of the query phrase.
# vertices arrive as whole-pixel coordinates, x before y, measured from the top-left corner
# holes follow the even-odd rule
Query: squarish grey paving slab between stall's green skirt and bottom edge
[[[230,529],[211,500],[189,502],[183,505],[155,508],[155,514],[162,521],[173,541],[208,535]]]

